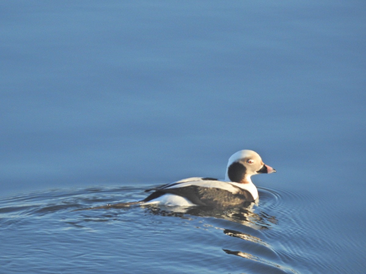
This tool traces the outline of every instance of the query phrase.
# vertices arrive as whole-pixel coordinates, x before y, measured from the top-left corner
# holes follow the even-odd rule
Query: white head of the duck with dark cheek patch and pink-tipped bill
[[[225,181],[251,183],[251,175],[272,172],[276,172],[276,170],[263,163],[257,152],[244,149],[234,153],[229,158]]]

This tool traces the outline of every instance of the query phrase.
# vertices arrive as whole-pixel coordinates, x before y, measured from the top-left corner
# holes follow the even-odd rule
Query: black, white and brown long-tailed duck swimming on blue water
[[[266,165],[257,152],[243,149],[229,158],[224,180],[210,177],[186,178],[145,190],[153,192],[141,201],[89,209],[121,208],[131,205],[236,207],[258,199],[257,187],[251,181],[252,175],[273,172],[276,170]]]

